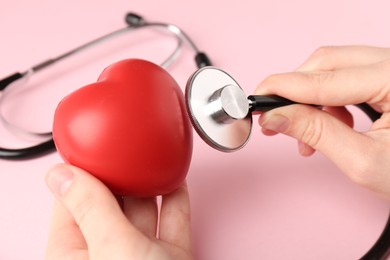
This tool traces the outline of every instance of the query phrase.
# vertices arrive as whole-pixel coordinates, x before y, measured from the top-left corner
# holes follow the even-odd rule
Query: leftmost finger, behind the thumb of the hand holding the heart
[[[87,259],[87,257],[87,244],[79,227],[68,209],[56,200],[53,207],[46,259]]]

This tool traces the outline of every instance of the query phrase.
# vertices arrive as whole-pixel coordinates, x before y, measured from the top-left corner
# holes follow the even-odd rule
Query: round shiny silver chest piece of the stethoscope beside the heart
[[[252,129],[248,99],[229,74],[215,67],[199,69],[188,80],[185,97],[190,120],[207,144],[233,152],[248,142]]]

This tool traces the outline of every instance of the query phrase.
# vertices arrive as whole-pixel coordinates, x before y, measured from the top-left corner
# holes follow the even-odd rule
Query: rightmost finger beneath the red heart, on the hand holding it
[[[163,196],[159,231],[161,240],[191,251],[190,200],[186,184]]]

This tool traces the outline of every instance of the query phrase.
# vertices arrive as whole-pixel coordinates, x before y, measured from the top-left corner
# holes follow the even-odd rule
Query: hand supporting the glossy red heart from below
[[[185,185],[162,197],[158,220],[155,198],[121,198],[121,209],[99,180],[76,167],[58,165],[46,182],[56,197],[46,259],[192,259]]]

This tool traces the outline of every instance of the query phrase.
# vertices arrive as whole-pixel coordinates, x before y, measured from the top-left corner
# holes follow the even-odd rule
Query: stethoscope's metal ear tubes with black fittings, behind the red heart
[[[123,35],[124,33],[133,32],[138,29],[146,29],[146,28],[159,28],[166,31],[168,34],[172,35],[176,38],[176,46],[175,49],[165,58],[163,62],[160,63],[162,68],[168,68],[172,62],[174,62],[182,49],[183,43],[187,43],[187,45],[195,52],[194,60],[198,68],[211,65],[210,59],[208,56],[199,50],[197,45],[192,41],[192,39],[178,26],[170,23],[163,22],[148,22],[142,16],[136,13],[127,13],[125,16],[125,22],[127,24],[126,27],[115,30],[108,34],[105,34],[99,38],[91,40],[87,43],[84,43],[76,48],[73,48],[67,52],[64,52],[60,55],[55,56],[54,58],[50,58],[44,60],[34,66],[31,66],[29,69],[23,72],[16,72],[8,77],[0,79],[0,107],[2,101],[5,99],[7,95],[5,95],[3,91],[10,91],[10,86],[16,83],[25,84],[28,79],[36,74],[37,72],[43,71],[46,68],[49,68],[51,65],[61,62],[64,59],[71,57],[73,55],[79,54],[80,52],[94,47],[100,43],[106,42],[109,39],[113,39],[117,36]],[[10,132],[17,131],[18,133],[27,135],[28,137],[34,137],[37,140],[42,140],[42,137],[46,141],[39,143],[37,145],[25,147],[25,148],[3,148],[0,147],[0,158],[1,159],[28,159],[35,158],[42,155],[45,155],[50,152],[54,152],[55,146],[52,140],[51,132],[45,133],[35,133],[31,132],[27,129],[23,129],[22,127],[13,125],[8,122],[8,120],[3,116],[0,110],[0,121],[4,123],[4,126],[10,129]]]

